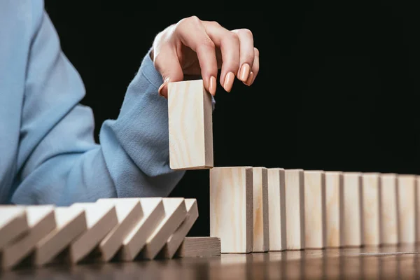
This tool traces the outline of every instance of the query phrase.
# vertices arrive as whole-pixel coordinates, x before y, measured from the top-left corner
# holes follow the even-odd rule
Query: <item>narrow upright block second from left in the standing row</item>
[[[253,252],[269,251],[267,168],[253,167]]]

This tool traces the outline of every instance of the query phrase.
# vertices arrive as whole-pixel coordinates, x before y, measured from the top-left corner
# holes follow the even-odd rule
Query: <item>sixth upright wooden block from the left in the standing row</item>
[[[328,248],[341,246],[340,197],[343,188],[342,172],[325,172],[325,235]]]

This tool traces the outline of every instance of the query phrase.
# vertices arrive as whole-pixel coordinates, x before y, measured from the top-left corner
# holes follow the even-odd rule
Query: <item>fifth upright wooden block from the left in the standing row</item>
[[[325,247],[325,173],[305,170],[304,175],[304,246]]]

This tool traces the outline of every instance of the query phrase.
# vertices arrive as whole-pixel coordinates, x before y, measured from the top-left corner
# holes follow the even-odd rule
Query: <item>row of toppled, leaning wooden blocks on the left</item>
[[[1,268],[220,254],[220,239],[186,237],[197,217],[197,200],[182,197],[1,205]]]

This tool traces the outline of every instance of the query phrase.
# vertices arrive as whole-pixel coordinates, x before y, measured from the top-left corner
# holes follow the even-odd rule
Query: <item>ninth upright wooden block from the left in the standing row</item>
[[[380,244],[398,244],[397,174],[381,174],[379,177],[379,225]]]

